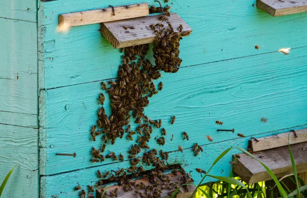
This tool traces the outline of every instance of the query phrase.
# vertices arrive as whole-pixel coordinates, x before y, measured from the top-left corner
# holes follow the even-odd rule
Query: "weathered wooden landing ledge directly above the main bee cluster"
[[[188,24],[176,13],[168,17],[168,21],[161,21],[162,15],[144,16],[134,19],[101,23],[101,34],[114,46],[114,48],[129,47],[134,45],[151,43],[156,34],[151,30],[151,24],[163,23],[167,27],[169,22],[175,32],[182,24],[184,32],[192,32]],[[164,15],[166,16],[166,15]]]

